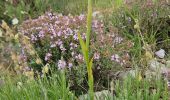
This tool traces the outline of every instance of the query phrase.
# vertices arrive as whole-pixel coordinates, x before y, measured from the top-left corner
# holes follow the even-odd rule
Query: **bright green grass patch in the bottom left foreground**
[[[16,80],[16,79],[15,79]],[[5,78],[5,84],[0,88],[0,98],[8,100],[75,100],[69,91],[64,72],[55,72],[51,77],[36,80],[18,78],[16,82],[10,77]]]

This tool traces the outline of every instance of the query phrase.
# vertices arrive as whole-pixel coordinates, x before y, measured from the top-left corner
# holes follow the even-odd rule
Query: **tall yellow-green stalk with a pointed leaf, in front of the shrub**
[[[89,85],[89,97],[90,100],[94,100],[94,90],[93,90],[93,59],[89,57],[89,43],[90,43],[90,33],[92,26],[92,0],[88,0],[88,14],[87,14],[87,32],[86,32],[86,42],[83,41],[81,35],[78,33],[79,42],[81,45],[82,53],[85,58],[87,72],[88,72],[88,85]]]

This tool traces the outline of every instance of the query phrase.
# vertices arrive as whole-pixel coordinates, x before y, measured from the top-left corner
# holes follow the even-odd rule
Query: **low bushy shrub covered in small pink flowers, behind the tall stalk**
[[[44,65],[48,63],[57,66],[54,69],[58,70],[70,69],[72,71],[69,71],[70,74],[68,75],[79,78],[84,78],[86,71],[83,63],[84,58],[80,53],[77,33],[79,32],[85,40],[85,31],[86,16],[83,14],[63,16],[48,12],[37,19],[24,21],[19,27],[19,32],[29,38]],[[118,35],[114,28],[110,27],[108,31],[105,30],[103,21],[99,20],[96,15],[93,17],[91,35],[90,55],[94,54],[91,55],[94,59],[94,71],[96,69],[110,69],[128,65],[127,48],[130,48],[132,43]],[[23,60],[29,62],[30,67],[41,70],[41,66],[34,59],[31,59],[27,52],[27,44],[24,44],[22,49]],[[114,55],[117,55],[116,59],[114,59]],[[97,76],[94,77],[97,78],[100,73],[95,75]],[[83,81],[79,82],[80,80],[71,79],[73,83]]]

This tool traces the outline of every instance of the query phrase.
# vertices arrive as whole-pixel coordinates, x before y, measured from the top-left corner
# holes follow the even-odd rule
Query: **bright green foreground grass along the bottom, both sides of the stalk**
[[[116,95],[113,97],[105,95],[104,98],[116,100],[160,100],[160,98],[167,100],[169,98],[166,84],[162,79],[149,81],[129,76],[124,81],[115,80],[114,90]],[[5,84],[0,88],[2,100],[76,100],[76,98],[78,97],[75,97],[74,93],[69,90],[64,71],[54,73],[48,78],[45,76],[30,81],[24,81],[22,77],[14,82],[6,77]]]

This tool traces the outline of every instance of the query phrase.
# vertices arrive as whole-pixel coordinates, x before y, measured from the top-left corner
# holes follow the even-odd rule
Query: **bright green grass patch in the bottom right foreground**
[[[116,100],[167,100],[169,93],[162,79],[134,79],[127,77],[124,82],[115,82]]]

